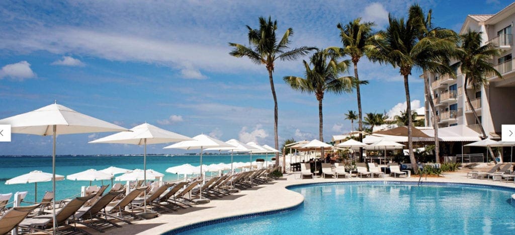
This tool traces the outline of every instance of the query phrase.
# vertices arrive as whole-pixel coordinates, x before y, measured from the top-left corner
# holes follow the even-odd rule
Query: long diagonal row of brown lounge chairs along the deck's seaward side
[[[106,228],[121,227],[118,223],[131,224],[133,220],[144,219],[138,215],[138,212],[145,209],[159,215],[252,188],[273,180],[270,173],[274,170],[277,170],[277,167],[226,174],[212,177],[204,184],[201,180],[193,180],[164,183],[162,186],[156,184],[153,187],[138,187],[130,190],[126,195],[123,187],[113,186],[113,189],[103,195],[98,193],[101,190],[99,189],[90,195],[60,202],[60,207],[56,208],[55,221],[51,208],[48,208],[49,205],[43,206],[43,203],[39,203],[26,207],[13,207],[0,217],[0,234],[9,233],[13,229],[16,229],[19,234],[52,233],[53,223],[56,224],[57,234],[90,234],[83,229],[84,227],[78,227],[78,224],[104,232]],[[146,197],[142,197],[145,191],[147,191]],[[44,213],[34,213],[37,208],[44,208],[42,209]]]

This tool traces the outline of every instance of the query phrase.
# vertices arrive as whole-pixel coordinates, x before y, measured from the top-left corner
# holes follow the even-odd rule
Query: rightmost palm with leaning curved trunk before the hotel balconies
[[[465,74],[465,86],[463,86],[464,94],[467,98],[469,107],[472,109],[474,118],[479,124],[483,139],[486,139],[488,136],[486,135],[481,120],[479,120],[479,117],[477,116],[474,106],[472,106],[472,103],[470,102],[467,86],[470,84],[474,90],[478,90],[481,87],[488,85],[486,76],[490,74],[503,78],[499,71],[495,70],[494,65],[489,62],[492,57],[499,56],[501,54],[501,49],[497,49],[492,43],[481,46],[481,32],[469,31],[464,35],[461,35],[460,38],[461,45],[459,47],[457,59],[459,61],[458,63],[461,73]],[[488,147],[488,150],[495,162],[495,158],[493,157],[495,155],[493,155],[492,148]]]

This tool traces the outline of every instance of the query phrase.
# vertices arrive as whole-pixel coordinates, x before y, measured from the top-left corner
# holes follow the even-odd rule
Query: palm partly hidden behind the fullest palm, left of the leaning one
[[[417,38],[419,41],[421,41],[423,38],[427,38],[427,37],[433,37],[433,38],[438,38],[439,40],[442,40],[442,41],[443,40],[447,41],[447,43],[449,44],[448,47],[438,48],[434,52],[441,54],[442,60],[445,61],[444,63],[442,63],[442,65],[448,65],[449,58],[445,58],[445,56],[453,55],[453,53],[450,51],[452,51],[452,47],[454,47],[454,45],[457,41],[457,35],[456,35],[456,32],[454,32],[453,30],[434,27],[431,22],[432,12],[433,11],[430,9],[427,12],[427,14],[424,14],[424,11],[418,4],[414,4],[409,8],[410,19],[412,19],[415,22],[415,25],[418,26],[419,35]],[[450,49],[449,49],[449,47],[450,47]],[[448,66],[438,66],[438,68],[440,68],[439,72],[442,74],[443,73],[451,74],[453,77],[456,76],[450,68],[445,68],[445,67],[448,67]],[[425,88],[424,93],[425,93],[426,99],[428,100],[428,103],[431,107],[431,112],[433,114],[432,121],[433,121],[434,133],[435,133],[435,135],[434,135],[435,158],[436,158],[436,163],[440,163],[440,157],[439,157],[440,156],[440,154],[439,154],[440,147],[439,147],[439,140],[438,140],[439,116],[436,114],[435,104],[433,102],[433,96],[431,94],[431,90],[430,90],[430,86],[429,86],[429,79],[427,76],[428,72],[435,73],[438,71],[435,71],[433,68],[431,68],[431,66],[422,66],[422,70],[423,70],[422,75],[423,75],[423,79],[424,79],[424,88]]]

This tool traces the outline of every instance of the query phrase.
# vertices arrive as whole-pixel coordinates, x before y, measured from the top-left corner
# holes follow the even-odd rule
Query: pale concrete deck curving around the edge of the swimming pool
[[[515,188],[515,183],[492,181],[487,179],[467,178],[466,171],[443,174],[444,177],[422,178],[423,182],[454,182],[486,184],[492,186],[503,186]],[[208,204],[197,205],[193,208],[180,209],[177,212],[165,213],[161,216],[145,221],[134,221],[132,225],[119,224],[121,228],[109,228],[109,234],[160,234],[176,228],[199,222],[216,220],[224,217],[274,211],[290,208],[301,204],[304,197],[296,192],[287,190],[285,187],[305,183],[321,182],[348,182],[348,181],[418,181],[419,178],[345,178],[345,179],[297,179],[294,174],[286,174],[280,180],[262,184],[252,189],[243,190],[220,199],[211,200]],[[92,230],[88,230],[94,234]]]

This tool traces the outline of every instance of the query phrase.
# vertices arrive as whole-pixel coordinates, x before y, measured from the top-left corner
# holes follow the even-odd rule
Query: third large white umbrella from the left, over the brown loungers
[[[214,147],[234,147],[231,144],[222,142],[204,134],[193,137],[193,140],[181,141],[164,148],[180,148],[180,149],[200,149],[200,179],[203,179],[202,174],[202,151],[204,148]],[[200,188],[200,199],[202,199],[202,187]]]

